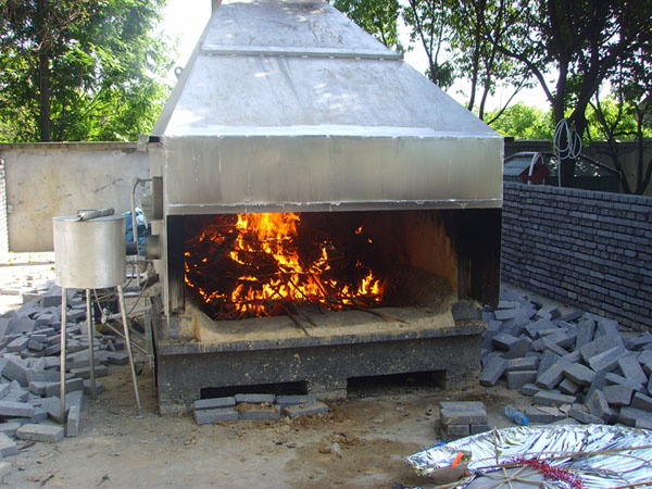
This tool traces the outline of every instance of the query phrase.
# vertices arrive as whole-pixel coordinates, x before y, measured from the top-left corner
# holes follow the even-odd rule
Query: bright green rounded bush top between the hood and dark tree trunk
[[[487,113],[486,118],[494,118],[498,115],[497,112]],[[536,106],[525,103],[509,106],[489,125],[501,135],[516,139],[552,140],[554,128],[551,113],[544,114]]]

